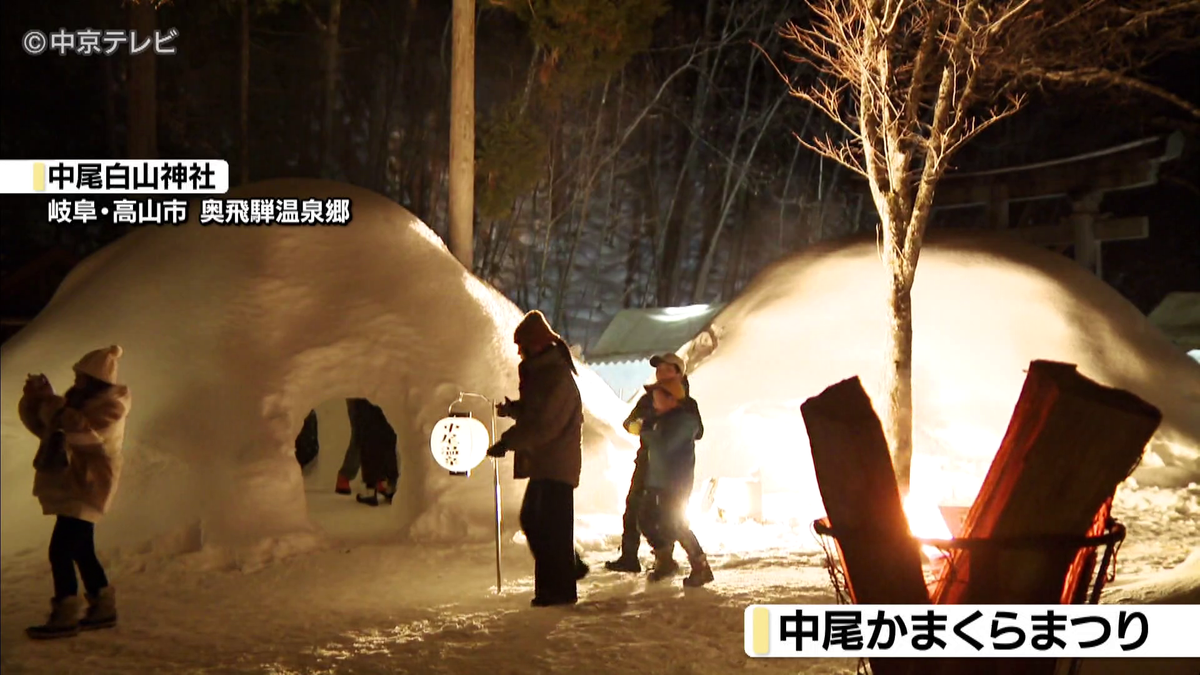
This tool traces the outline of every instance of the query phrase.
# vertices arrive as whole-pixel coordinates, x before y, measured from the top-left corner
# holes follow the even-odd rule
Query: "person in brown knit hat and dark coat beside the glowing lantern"
[[[575,489],[583,464],[583,401],[570,348],[539,311],[526,315],[514,341],[521,354],[516,401],[497,413],[516,424],[487,454],[512,450],[514,478],[528,478],[521,530],[534,558],[534,607],[574,604],[587,573],[575,549]]]

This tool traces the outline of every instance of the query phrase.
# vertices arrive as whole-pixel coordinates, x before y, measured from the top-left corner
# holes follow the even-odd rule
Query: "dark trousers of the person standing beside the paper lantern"
[[[533,554],[534,597],[577,599],[575,488],[558,480],[529,480],[521,502],[521,530]]]

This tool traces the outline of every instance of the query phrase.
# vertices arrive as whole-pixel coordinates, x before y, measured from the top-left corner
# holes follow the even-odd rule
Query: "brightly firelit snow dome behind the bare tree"
[[[823,515],[799,406],[857,375],[882,412],[886,288],[875,241],[852,240],[776,263],[726,307],[685,348],[707,426],[697,476],[761,471],[767,518],[773,503],[776,516]],[[913,333],[914,498],[974,500],[1034,359],[1078,364],[1163,411],[1139,483],[1200,480],[1200,364],[1073,261],[935,233],[917,270]]]

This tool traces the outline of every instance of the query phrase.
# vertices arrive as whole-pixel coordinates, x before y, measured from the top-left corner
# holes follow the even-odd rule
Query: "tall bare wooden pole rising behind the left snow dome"
[[[475,0],[454,0],[450,71],[450,252],[468,269],[475,216]]]

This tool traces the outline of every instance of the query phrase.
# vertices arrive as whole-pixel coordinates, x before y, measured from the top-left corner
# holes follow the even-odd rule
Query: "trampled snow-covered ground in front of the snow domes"
[[[320,473],[308,479],[312,513],[323,530],[340,536],[316,552],[253,571],[211,569],[202,554],[116,561],[110,568],[122,615],[110,632],[29,641],[22,629],[42,617],[49,574],[41,560],[5,565],[0,670],[816,675],[853,669],[845,659],[750,659],[743,652],[745,605],[833,602],[822,554],[803,528],[751,526],[731,540],[757,546],[728,550],[721,528],[702,527],[716,572],[707,589],[647,587],[641,578],[594,568],[581,584],[580,605],[533,610],[532,565],[520,544],[505,545],[505,587],[497,597],[491,545],[397,542],[389,534],[388,507],[371,509],[335,495]],[[1184,522],[1200,512],[1200,495],[1136,489],[1117,508],[1130,536],[1105,602],[1200,602],[1200,534]],[[1144,527],[1163,520],[1157,530]],[[616,554],[614,526],[581,525],[595,567]],[[1165,584],[1147,580],[1146,573],[1171,567],[1188,549],[1196,551],[1190,572],[1181,569]],[[1090,663],[1084,673],[1129,673],[1130,664]],[[1136,665],[1139,673],[1162,675],[1195,675],[1196,668],[1196,659]]]

